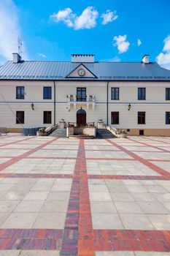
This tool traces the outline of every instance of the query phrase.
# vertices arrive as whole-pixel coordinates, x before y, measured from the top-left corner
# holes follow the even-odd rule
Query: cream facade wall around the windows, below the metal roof
[[[107,82],[93,81],[56,81],[56,123],[64,118],[66,121],[76,121],[77,110],[84,108],[87,112],[87,121],[103,119],[107,122]],[[25,99],[16,99],[16,86],[25,86]],[[52,99],[43,99],[43,86],[52,86]],[[77,94],[77,87],[86,87],[87,94],[96,96],[95,109],[87,110],[87,106],[77,104],[77,109],[67,107],[68,94]],[[111,100],[111,87],[120,88],[120,100]],[[138,87],[146,87],[146,100],[137,99]],[[115,127],[121,128],[170,128],[165,124],[165,112],[170,112],[170,101],[166,100],[166,87],[169,82],[109,82],[109,124],[111,124],[111,112],[120,112],[120,124]],[[48,81],[3,81],[0,80],[0,91],[7,100],[10,108],[14,111],[25,111],[25,126],[45,126],[43,124],[43,111],[52,111],[52,124],[54,114],[53,82]],[[15,116],[9,110],[7,103],[0,94],[0,127],[20,127],[15,124]],[[35,110],[31,109],[31,102]],[[128,111],[128,104],[131,110]],[[146,112],[146,124],[137,124],[137,112]],[[50,126],[50,124],[46,125]]]

